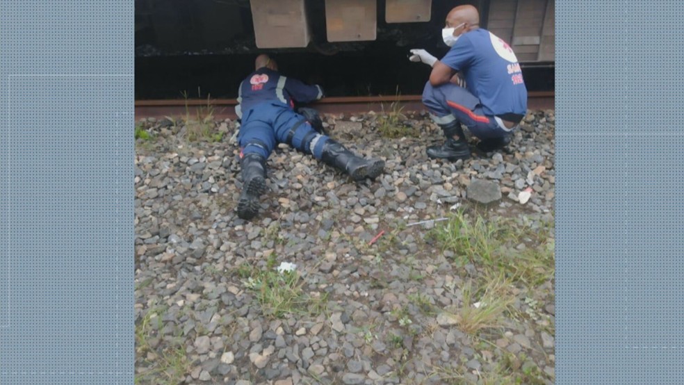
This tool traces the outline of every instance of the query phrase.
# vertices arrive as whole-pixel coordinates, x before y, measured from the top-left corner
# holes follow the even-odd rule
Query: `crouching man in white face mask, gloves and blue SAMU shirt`
[[[461,124],[480,139],[482,151],[494,151],[510,142],[510,134],[527,112],[527,89],[511,47],[478,26],[473,6],[457,6],[446,17],[444,43],[451,47],[437,60],[424,49],[412,49],[409,60],[432,67],[423,90],[423,104],[444,131],[446,142],[428,147],[428,157],[449,161],[471,156]],[[465,87],[452,81],[464,74]]]

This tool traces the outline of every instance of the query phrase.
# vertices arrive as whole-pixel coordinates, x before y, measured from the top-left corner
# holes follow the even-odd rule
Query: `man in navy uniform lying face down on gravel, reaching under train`
[[[242,120],[238,143],[243,189],[238,217],[250,220],[259,213],[259,197],[266,191],[266,159],[277,143],[311,154],[355,181],[375,179],[382,173],[384,161],[356,156],[314,130],[306,117],[293,110],[295,101],[309,103],[323,97],[319,85],[282,76],[275,61],[266,55],[257,57],[256,68],[240,84],[235,108]]]

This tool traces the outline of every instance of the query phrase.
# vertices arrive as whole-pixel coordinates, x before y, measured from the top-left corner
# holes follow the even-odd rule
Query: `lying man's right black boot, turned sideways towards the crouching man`
[[[332,139],[328,139],[323,145],[322,160],[325,164],[345,172],[355,181],[375,179],[384,169],[382,159],[361,158]]]

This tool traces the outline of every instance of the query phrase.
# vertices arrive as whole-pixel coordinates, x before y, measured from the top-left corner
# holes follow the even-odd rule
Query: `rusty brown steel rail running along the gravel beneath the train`
[[[312,108],[321,113],[360,113],[369,110],[376,112],[392,110],[393,103],[400,104],[402,112],[420,111],[425,107],[421,102],[421,95],[397,96],[369,96],[369,97],[327,97],[311,104]],[[208,110],[214,117],[219,119],[235,119],[236,99],[188,99],[188,100],[137,100],[136,120],[142,117],[165,116],[177,117],[190,114],[190,116],[205,115]],[[528,108],[553,109],[554,92],[529,92]]]

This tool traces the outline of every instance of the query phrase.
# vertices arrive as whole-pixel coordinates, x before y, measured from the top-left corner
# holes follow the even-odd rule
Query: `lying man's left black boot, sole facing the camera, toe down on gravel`
[[[240,161],[243,189],[238,200],[238,217],[250,220],[259,213],[259,197],[266,191],[266,158],[246,154]]]

